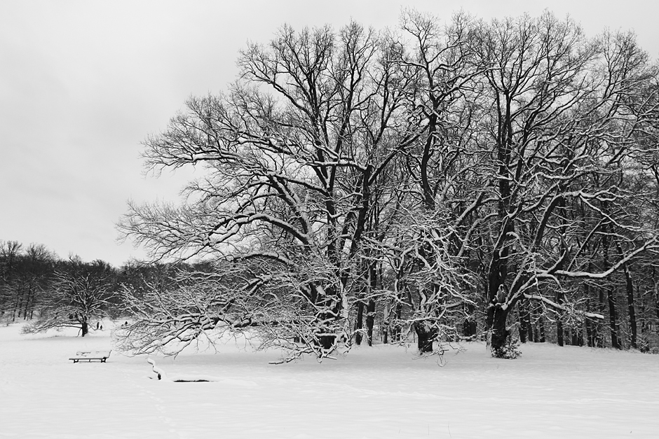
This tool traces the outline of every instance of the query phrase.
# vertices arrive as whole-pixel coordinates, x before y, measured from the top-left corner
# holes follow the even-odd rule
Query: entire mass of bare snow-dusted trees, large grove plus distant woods
[[[659,67],[632,32],[407,11],[284,26],[238,66],[144,141],[149,169],[203,169],[182,204],[121,219],[151,262],[4,242],[3,319],[121,316],[135,352],[250,331],[283,361],[412,340],[659,353]]]

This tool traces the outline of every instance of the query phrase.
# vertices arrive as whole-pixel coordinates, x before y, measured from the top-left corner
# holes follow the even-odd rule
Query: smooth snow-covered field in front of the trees
[[[0,327],[1,438],[659,438],[659,356],[527,344],[517,360],[483,344],[446,364],[401,347],[270,365],[277,352],[226,344],[219,354],[113,352],[109,331],[20,335]]]

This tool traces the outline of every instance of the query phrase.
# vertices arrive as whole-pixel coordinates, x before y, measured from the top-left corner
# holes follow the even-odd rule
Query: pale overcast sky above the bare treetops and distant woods
[[[144,177],[140,141],[190,95],[236,78],[246,41],[353,18],[381,29],[402,6],[449,18],[569,13],[595,36],[634,29],[659,57],[659,2],[627,1],[0,1],[0,239],[121,265],[126,201],[176,200],[190,172]]]

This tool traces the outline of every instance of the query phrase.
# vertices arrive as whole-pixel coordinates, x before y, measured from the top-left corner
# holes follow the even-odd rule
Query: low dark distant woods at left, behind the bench
[[[107,320],[130,318],[123,291],[168,279],[173,265],[59,258],[43,244],[0,240],[0,322],[26,322],[25,333],[76,328],[84,337]]]

